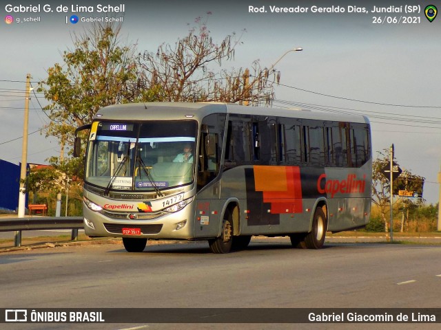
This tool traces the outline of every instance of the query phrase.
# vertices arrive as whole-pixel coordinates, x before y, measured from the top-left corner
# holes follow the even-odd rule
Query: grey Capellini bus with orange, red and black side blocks
[[[228,253],[256,235],[318,249],[326,232],[369,222],[371,131],[363,115],[116,104],[76,129],[75,156],[85,129],[85,233],[121,237],[127,252],[171,239],[205,240],[212,252]],[[192,157],[179,162],[183,151]]]

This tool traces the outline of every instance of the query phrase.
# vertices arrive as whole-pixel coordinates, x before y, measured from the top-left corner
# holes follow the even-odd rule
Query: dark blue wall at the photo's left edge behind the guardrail
[[[0,209],[15,211],[19,206],[20,166],[0,159]]]

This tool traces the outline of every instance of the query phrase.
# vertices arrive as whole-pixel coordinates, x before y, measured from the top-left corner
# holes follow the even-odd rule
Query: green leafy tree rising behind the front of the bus
[[[74,35],[74,48],[62,54],[64,64],[50,67],[41,82],[40,91],[50,102],[44,110],[52,120],[46,134],[59,138],[62,148],[66,142],[72,145],[76,127],[91,122],[99,108],[139,96],[136,50],[122,45],[120,31],[121,25],[96,23]]]

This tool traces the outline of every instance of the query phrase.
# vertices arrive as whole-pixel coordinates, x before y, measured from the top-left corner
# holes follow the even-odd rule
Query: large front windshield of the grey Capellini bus
[[[105,190],[162,190],[192,183],[197,122],[94,122],[85,181]]]

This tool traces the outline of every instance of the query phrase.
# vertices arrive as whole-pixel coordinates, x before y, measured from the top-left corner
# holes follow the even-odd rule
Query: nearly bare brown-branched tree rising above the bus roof
[[[198,17],[198,26],[174,46],[163,44],[139,55],[143,89],[156,91],[163,101],[270,104],[280,74],[260,67],[259,61],[251,69],[222,69],[223,61],[234,58],[242,35],[233,33],[215,43],[207,28],[209,14]]]

